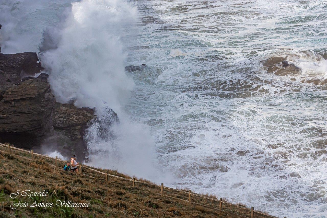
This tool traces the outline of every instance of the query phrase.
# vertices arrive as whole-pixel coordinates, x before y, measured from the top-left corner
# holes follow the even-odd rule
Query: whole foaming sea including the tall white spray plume
[[[46,50],[57,99],[117,112],[111,141],[89,129],[94,165],[326,217],[327,85],[303,82],[327,79],[326,1],[57,2],[0,4],[2,52]]]

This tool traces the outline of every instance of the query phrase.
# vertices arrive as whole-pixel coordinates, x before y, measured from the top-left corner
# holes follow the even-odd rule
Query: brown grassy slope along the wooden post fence
[[[1,148],[4,151],[3,148]],[[17,153],[16,153],[17,154]],[[52,163],[53,164],[53,163]],[[62,165],[60,163],[60,165]],[[54,168],[47,164],[43,158],[36,162],[17,158],[9,154],[0,154],[0,217],[234,217],[226,213],[219,213],[200,206],[182,203],[159,195],[160,188],[136,183],[132,187],[130,181],[110,178],[105,181],[98,174],[76,175],[63,172],[61,168]],[[115,171],[111,174],[122,176]],[[127,177],[127,176],[124,176]],[[46,197],[19,196],[10,198],[10,193],[17,190],[30,189],[33,192],[47,191]],[[187,194],[168,192],[165,194],[187,200]],[[69,208],[56,206],[56,201],[71,200],[76,203],[90,203],[86,208]],[[53,203],[52,207],[24,207],[16,210],[10,209],[10,204],[27,202],[31,205],[35,200],[38,203]],[[217,207],[216,202],[206,199],[194,201]],[[208,201],[208,202],[204,202]],[[237,212],[238,209],[226,206],[226,209]],[[245,215],[245,214],[244,214]],[[249,216],[250,214],[247,213]],[[256,215],[256,217],[264,217]]]

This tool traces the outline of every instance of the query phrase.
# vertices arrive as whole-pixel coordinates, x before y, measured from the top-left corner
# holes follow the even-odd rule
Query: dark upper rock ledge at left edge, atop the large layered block
[[[35,52],[0,54],[0,92],[27,76],[40,73],[42,66]]]

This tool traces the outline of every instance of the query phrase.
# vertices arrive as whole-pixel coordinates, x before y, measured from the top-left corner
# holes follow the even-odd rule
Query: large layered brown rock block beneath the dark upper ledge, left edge
[[[32,147],[53,134],[54,95],[44,75],[12,84],[0,95],[0,139]]]

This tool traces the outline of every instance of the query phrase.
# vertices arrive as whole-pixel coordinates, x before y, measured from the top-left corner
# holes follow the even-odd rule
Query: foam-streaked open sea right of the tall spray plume
[[[287,217],[327,213],[325,1],[140,1],[129,104],[152,127],[171,185]],[[128,42],[127,42],[128,43]],[[137,46],[136,46],[137,45]],[[286,57],[301,74],[268,74]],[[293,81],[295,80],[295,81]]]

